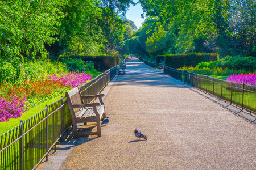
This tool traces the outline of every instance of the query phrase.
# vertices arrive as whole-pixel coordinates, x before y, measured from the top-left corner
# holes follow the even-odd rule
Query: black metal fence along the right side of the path
[[[186,70],[178,71],[166,66],[164,67],[164,73],[179,80],[182,80],[184,76],[185,83],[219,97],[221,100],[238,105],[242,109],[256,112],[256,86],[228,82],[207,75],[194,74]],[[183,76],[182,73],[184,73]]]

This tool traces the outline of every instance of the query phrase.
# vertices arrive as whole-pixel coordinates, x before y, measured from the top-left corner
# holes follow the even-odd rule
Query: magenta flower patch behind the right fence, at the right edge
[[[236,82],[236,83],[245,83],[250,84],[253,86],[256,86],[256,73],[250,73],[250,74],[234,74],[230,75],[228,78],[226,78],[228,82]]]

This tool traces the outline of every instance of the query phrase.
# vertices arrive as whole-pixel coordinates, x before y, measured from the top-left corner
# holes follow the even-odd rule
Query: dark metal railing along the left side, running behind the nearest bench
[[[113,67],[98,75],[80,87],[82,95],[99,94],[115,74]],[[48,160],[53,147],[56,151],[56,142],[71,124],[66,97],[20,121],[18,126],[0,135],[0,169],[35,169],[44,158]]]

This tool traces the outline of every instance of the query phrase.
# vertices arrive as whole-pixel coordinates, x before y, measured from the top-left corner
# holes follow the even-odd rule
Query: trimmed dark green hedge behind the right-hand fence
[[[160,58],[163,55],[159,55]],[[218,61],[218,54],[210,53],[191,53],[191,54],[166,54],[164,55],[164,63],[168,67],[179,68],[183,66],[195,67],[202,61]]]

